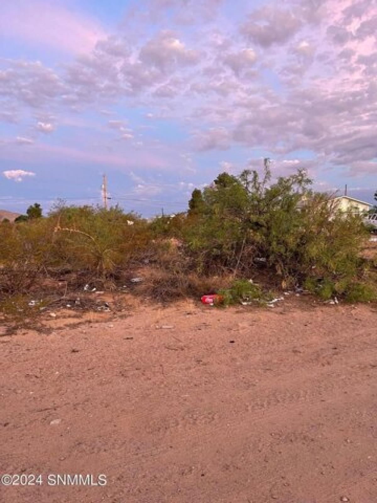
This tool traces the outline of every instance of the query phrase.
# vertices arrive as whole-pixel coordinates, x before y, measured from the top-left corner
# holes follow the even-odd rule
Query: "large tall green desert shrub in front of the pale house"
[[[187,218],[185,239],[199,271],[224,268],[249,276],[255,259],[263,258],[286,286],[355,275],[362,220],[335,211],[327,195],[312,190],[305,172],[272,184],[268,170],[263,178],[249,171],[225,175],[203,191],[201,214]]]

